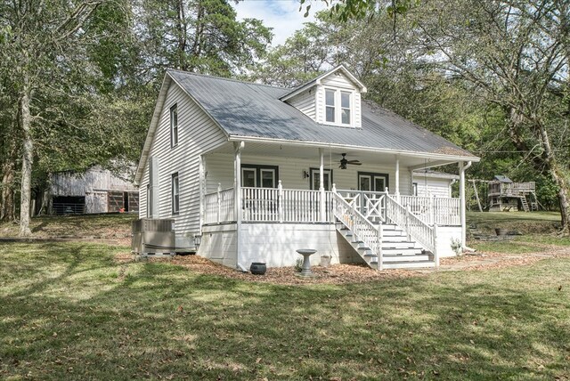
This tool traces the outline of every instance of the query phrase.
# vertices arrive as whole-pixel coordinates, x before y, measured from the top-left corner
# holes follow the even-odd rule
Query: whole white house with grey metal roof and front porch
[[[474,155],[362,100],[342,65],[294,89],[169,70],[135,182],[176,246],[248,269],[312,262],[423,267],[465,244],[464,197],[412,195],[414,170]]]

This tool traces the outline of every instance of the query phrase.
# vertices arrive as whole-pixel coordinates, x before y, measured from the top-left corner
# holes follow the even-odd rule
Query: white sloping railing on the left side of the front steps
[[[353,232],[356,239],[361,240],[378,256],[378,269],[382,270],[382,226],[377,228],[368,218],[362,215],[354,202],[349,203],[338,192],[332,189],[333,215]]]

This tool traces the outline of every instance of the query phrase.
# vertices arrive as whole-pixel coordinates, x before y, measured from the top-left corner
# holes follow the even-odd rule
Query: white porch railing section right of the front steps
[[[410,206],[411,213],[424,223],[460,225],[460,199],[447,197],[400,196],[400,204]]]

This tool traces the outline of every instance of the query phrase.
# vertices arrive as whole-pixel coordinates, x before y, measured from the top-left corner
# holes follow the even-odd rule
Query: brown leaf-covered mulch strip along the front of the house
[[[558,256],[570,256],[570,247],[557,247],[554,245],[537,245],[536,253],[528,254],[505,254],[505,253],[476,253],[473,255],[461,255],[457,257],[442,258],[439,271],[483,271],[499,269],[510,266],[520,266],[535,263],[545,258]],[[133,260],[133,255],[122,253],[116,256],[118,262],[126,263]],[[151,258],[150,261],[164,261],[168,259]],[[169,260],[170,263],[183,266],[191,272],[206,275],[248,280],[278,285],[303,285],[303,284],[350,284],[364,283],[379,280],[403,279],[418,276],[427,276],[435,269],[418,270],[385,270],[382,272],[359,264],[333,264],[328,268],[313,266],[312,270],[317,275],[313,279],[299,278],[293,267],[275,267],[267,269],[265,275],[253,275],[248,272],[238,272],[219,263],[214,263],[199,255],[176,255]]]

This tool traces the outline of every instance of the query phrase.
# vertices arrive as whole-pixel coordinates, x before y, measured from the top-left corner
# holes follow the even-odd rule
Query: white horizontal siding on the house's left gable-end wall
[[[177,106],[179,146],[170,148],[170,108]],[[179,174],[179,213],[175,215],[176,239],[198,233],[199,226],[199,156],[227,142],[224,133],[208,115],[175,85],[168,88],[160,113],[159,125],[152,140],[149,157],[159,159],[159,217],[171,216],[171,176]],[[233,159],[232,159],[233,160]],[[233,161],[232,161],[233,162]],[[233,178],[233,176],[232,176]],[[144,167],[139,188],[141,217],[146,215],[146,187],[149,162]],[[217,185],[216,185],[217,186]]]

